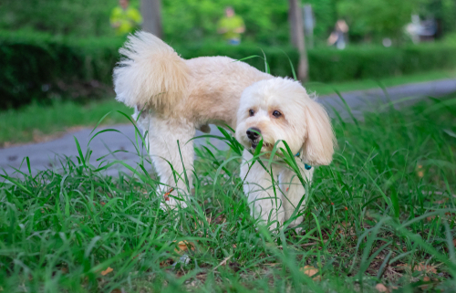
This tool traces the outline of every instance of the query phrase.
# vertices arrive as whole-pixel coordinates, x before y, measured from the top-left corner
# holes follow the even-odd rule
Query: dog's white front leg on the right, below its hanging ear
[[[304,179],[305,183],[310,183],[314,173],[314,168],[306,170],[303,162],[296,160],[297,166],[299,167],[300,174]],[[284,210],[285,210],[285,221],[288,220],[295,209],[298,207],[299,202],[303,196],[306,196],[306,188],[299,180],[297,174],[289,169],[284,168],[279,176],[280,189],[284,193]],[[299,209],[302,209],[306,204],[303,200]],[[297,214],[296,214],[297,215]],[[300,215],[295,217],[290,226],[299,225],[303,222],[304,216]]]

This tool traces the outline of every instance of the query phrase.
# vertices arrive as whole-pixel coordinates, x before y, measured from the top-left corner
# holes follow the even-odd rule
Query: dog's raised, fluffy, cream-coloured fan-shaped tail
[[[119,53],[125,58],[114,68],[114,89],[127,106],[167,111],[188,94],[190,69],[160,38],[138,32]]]

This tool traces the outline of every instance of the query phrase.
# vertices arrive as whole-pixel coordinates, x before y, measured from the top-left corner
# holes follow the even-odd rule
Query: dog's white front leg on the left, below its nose
[[[266,172],[259,162],[252,165],[252,158],[252,154],[244,150],[241,165],[241,179],[245,178],[244,194],[248,198],[251,214],[253,216],[259,215],[266,225],[268,222],[273,223],[269,225],[269,228],[275,229],[276,224],[282,225],[284,223],[285,213],[282,195],[277,188],[278,186],[275,186],[275,189],[273,188],[271,170],[268,170],[269,173]],[[278,173],[275,174],[274,168],[272,172],[273,178],[276,178]]]

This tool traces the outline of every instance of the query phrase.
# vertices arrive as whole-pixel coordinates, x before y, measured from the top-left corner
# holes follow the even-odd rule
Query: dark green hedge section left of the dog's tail
[[[68,92],[74,98],[90,96],[105,89],[122,41],[0,32],[0,108]]]

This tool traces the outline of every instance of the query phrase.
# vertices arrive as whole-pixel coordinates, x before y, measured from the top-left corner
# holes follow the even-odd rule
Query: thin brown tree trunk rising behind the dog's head
[[[308,80],[308,61],[306,53],[306,42],[304,39],[303,14],[299,0],[288,0],[288,20],[290,22],[290,36],[294,47],[299,51],[299,65],[297,67],[297,78],[301,82]]]

